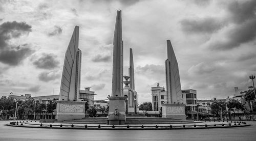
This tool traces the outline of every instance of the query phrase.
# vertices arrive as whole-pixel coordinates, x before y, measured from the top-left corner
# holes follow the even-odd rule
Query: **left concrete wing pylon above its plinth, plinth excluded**
[[[79,26],[74,32],[66,50],[63,65],[59,100],[77,100],[80,88],[81,50],[78,49]]]

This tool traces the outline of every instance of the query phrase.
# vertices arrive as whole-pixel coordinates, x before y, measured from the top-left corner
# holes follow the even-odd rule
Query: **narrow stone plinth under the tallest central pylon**
[[[110,100],[109,125],[122,125],[125,123],[125,99],[126,97],[112,96]]]

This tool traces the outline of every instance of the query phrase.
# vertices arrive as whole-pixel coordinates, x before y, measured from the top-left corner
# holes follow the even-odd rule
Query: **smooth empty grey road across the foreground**
[[[255,140],[256,122],[251,126],[182,130],[75,130],[5,126],[0,121],[0,140]]]

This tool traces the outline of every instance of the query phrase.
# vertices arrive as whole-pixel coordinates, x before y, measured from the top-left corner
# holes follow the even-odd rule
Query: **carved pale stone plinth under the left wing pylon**
[[[56,101],[57,121],[82,119],[85,117],[84,106],[86,101]]]

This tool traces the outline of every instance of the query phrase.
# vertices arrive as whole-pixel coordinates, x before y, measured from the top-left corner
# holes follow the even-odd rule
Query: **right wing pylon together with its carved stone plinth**
[[[165,61],[166,72],[166,102],[161,104],[162,117],[172,117],[186,119],[185,104],[183,104],[180,74],[178,62],[175,57],[174,49],[169,40],[167,40],[167,60]]]

